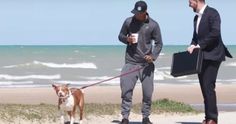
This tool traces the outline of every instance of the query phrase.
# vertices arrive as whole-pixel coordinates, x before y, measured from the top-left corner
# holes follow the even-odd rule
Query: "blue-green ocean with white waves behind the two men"
[[[236,56],[236,45],[227,46]],[[197,75],[170,75],[172,55],[187,46],[166,45],[155,61],[155,83],[197,84]],[[0,87],[48,87],[52,83],[86,86],[120,75],[125,46],[0,46]],[[217,83],[236,83],[236,59],[221,64]],[[119,78],[100,85],[119,85]]]

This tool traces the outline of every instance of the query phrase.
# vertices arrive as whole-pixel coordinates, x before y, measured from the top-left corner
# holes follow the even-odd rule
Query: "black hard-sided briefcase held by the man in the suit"
[[[203,53],[200,49],[174,53],[172,57],[171,75],[174,77],[197,74],[201,72]]]

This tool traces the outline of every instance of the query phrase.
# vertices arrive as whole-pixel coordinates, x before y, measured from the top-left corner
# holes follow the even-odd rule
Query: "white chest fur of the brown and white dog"
[[[60,105],[60,108],[65,111],[72,111],[74,108],[74,97],[70,95],[64,102]]]

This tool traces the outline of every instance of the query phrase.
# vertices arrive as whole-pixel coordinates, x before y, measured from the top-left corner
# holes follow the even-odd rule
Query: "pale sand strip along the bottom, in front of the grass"
[[[236,112],[220,112],[218,124],[235,124]],[[153,124],[201,124],[204,114],[162,114],[151,115],[150,120]],[[121,120],[120,115],[104,115],[104,116],[89,116],[83,120],[83,124],[119,124]],[[142,116],[131,113],[130,124],[142,124]],[[1,124],[5,122],[0,120]],[[53,124],[52,122],[29,122],[25,120],[15,120],[15,124]],[[55,124],[59,124],[59,119]],[[78,120],[76,123],[78,124]]]

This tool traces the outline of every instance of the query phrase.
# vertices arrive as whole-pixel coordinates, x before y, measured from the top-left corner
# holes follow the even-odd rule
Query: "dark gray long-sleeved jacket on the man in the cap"
[[[128,44],[127,37],[131,33],[138,33],[138,43]],[[163,45],[160,27],[150,17],[145,22],[138,21],[134,16],[127,18],[121,28],[119,40],[127,44],[125,63],[130,64],[147,63],[144,59],[145,55],[151,55],[156,60]]]

